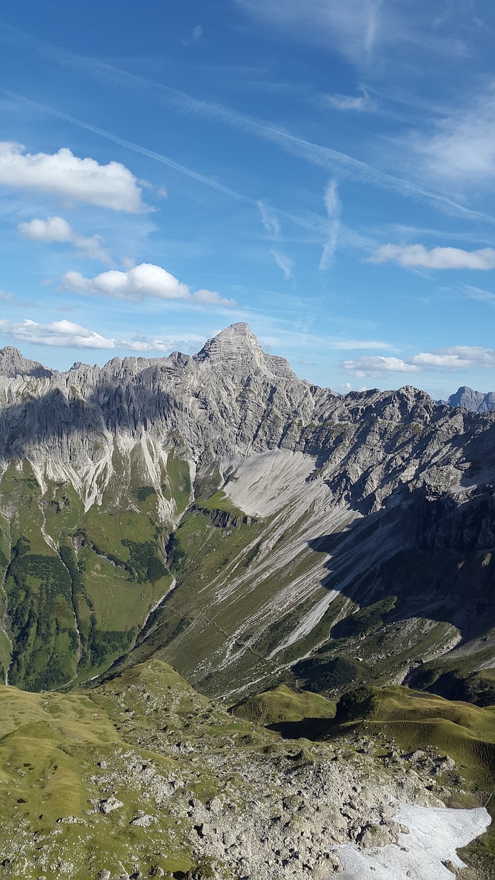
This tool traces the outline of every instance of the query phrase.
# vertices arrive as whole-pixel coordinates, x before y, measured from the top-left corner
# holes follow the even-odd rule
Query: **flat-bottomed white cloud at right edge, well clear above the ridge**
[[[384,245],[368,258],[369,263],[395,262],[400,266],[429,269],[493,269],[495,249],[484,247],[478,251],[463,251],[460,247],[433,247],[424,245]]]

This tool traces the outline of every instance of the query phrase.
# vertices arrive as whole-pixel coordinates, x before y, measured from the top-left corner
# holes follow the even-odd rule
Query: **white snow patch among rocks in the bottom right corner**
[[[445,862],[464,868],[456,849],[475,840],[491,824],[484,807],[437,810],[403,804],[394,818],[410,830],[399,833],[397,844],[364,850],[353,843],[338,847],[344,866],[341,880],[453,880]]]

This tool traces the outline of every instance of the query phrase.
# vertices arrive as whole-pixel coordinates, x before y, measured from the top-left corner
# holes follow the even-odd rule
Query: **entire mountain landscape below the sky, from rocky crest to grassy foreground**
[[[246,324],[0,407],[0,877],[495,877],[494,412]]]

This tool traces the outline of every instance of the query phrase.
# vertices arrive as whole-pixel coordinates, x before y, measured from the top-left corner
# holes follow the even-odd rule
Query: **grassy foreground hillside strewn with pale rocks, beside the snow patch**
[[[156,660],[84,691],[0,686],[0,705],[9,880],[326,880],[342,871],[340,845],[397,840],[399,801],[441,807],[458,788],[453,762],[433,753],[395,752],[386,766],[387,730],[288,742]]]

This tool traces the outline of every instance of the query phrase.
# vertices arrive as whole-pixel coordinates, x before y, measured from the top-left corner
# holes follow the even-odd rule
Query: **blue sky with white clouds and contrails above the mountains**
[[[0,345],[194,352],[247,320],[338,392],[495,388],[488,0],[17,0]]]

